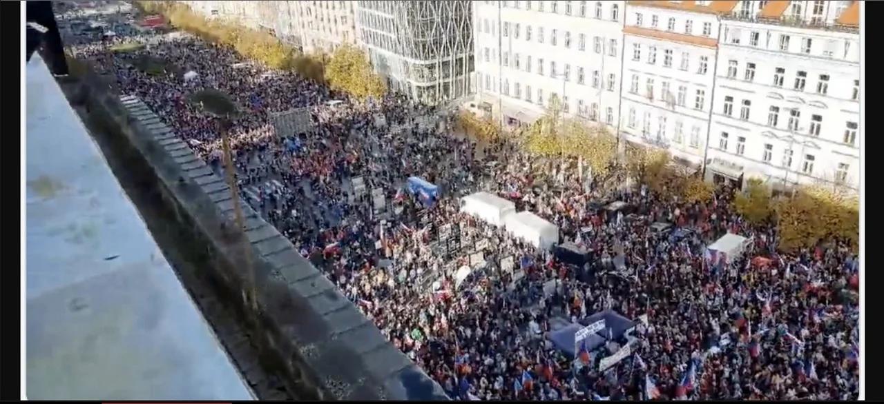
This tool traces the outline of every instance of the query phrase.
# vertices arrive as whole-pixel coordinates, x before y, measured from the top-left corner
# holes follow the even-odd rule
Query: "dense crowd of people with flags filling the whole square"
[[[366,105],[245,62],[232,49],[140,35],[126,41],[149,46],[130,53],[108,51],[122,39],[73,51],[112,75],[121,93],[145,101],[219,173],[217,124],[188,95],[214,88],[246,109],[230,131],[243,197],[453,398],[857,398],[857,256],[844,244],[778,254],[776,229],[747,225],[732,210],[731,192],[690,205],[644,187],[592,189],[558,161],[453,134],[439,108],[394,94]],[[175,71],[147,74],[137,67],[145,57]],[[198,76],[184,79],[187,71]],[[301,107],[310,108],[314,129],[277,136],[271,113]],[[408,176],[438,184],[436,203],[409,196]],[[356,177],[365,191],[354,188]],[[375,189],[384,209],[375,209]],[[457,198],[473,191],[514,198],[559,226],[563,241],[595,251],[593,275],[459,213]],[[597,208],[602,200],[634,206],[634,217],[607,214]],[[690,234],[655,232],[650,224],[658,221]],[[469,265],[472,250],[440,252],[443,229],[461,241],[488,241],[488,265],[460,288],[453,273]],[[750,249],[730,265],[711,265],[704,246],[727,232],[750,237]],[[499,265],[507,257],[523,276]],[[619,270],[607,265],[614,257]],[[754,265],[755,257],[770,264]],[[546,293],[549,281],[555,288]],[[636,355],[611,371],[599,373],[545,338],[562,318],[606,309],[646,316],[629,342]],[[627,340],[615,342],[600,355]]]

